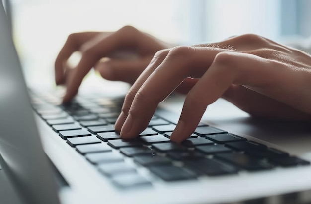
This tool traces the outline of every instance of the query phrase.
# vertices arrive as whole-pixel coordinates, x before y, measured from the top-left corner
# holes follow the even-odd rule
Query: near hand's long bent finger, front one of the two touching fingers
[[[140,77],[135,82],[131,89],[135,97],[125,98],[123,107],[128,114],[121,128],[121,137],[134,138],[143,131],[158,103],[168,97],[185,78],[200,78],[221,51],[224,50],[187,46],[170,50],[148,78],[140,81]]]

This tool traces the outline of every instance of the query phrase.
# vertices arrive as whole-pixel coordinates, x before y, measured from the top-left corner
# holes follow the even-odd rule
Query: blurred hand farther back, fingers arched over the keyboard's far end
[[[131,26],[116,32],[85,32],[71,34],[55,61],[55,81],[66,84],[63,101],[70,101],[89,70],[94,67],[108,80],[134,83],[147,67],[156,51],[169,45]],[[68,58],[81,51],[78,65],[71,69]],[[101,60],[108,57],[106,60]]]

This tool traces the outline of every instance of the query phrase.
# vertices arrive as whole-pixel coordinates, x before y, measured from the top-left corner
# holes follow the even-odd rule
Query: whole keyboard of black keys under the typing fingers
[[[49,94],[30,95],[34,110],[68,147],[119,187],[310,165],[289,153],[202,123],[187,140],[172,143],[169,137],[176,121],[157,113],[136,139],[123,140],[114,130],[123,99],[79,96],[62,105]],[[149,176],[142,173],[146,170]]]

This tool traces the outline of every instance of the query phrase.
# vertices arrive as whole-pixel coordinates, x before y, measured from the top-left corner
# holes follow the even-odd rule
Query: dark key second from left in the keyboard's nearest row
[[[196,178],[194,172],[177,166],[151,166],[149,170],[164,181],[178,181]]]

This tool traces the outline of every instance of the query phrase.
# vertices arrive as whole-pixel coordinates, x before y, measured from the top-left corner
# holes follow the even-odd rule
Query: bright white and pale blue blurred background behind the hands
[[[311,34],[310,0],[10,0],[14,40],[27,79],[54,85],[67,36],[133,25],[179,45],[255,33],[275,41]],[[55,86],[55,85],[54,85]]]

